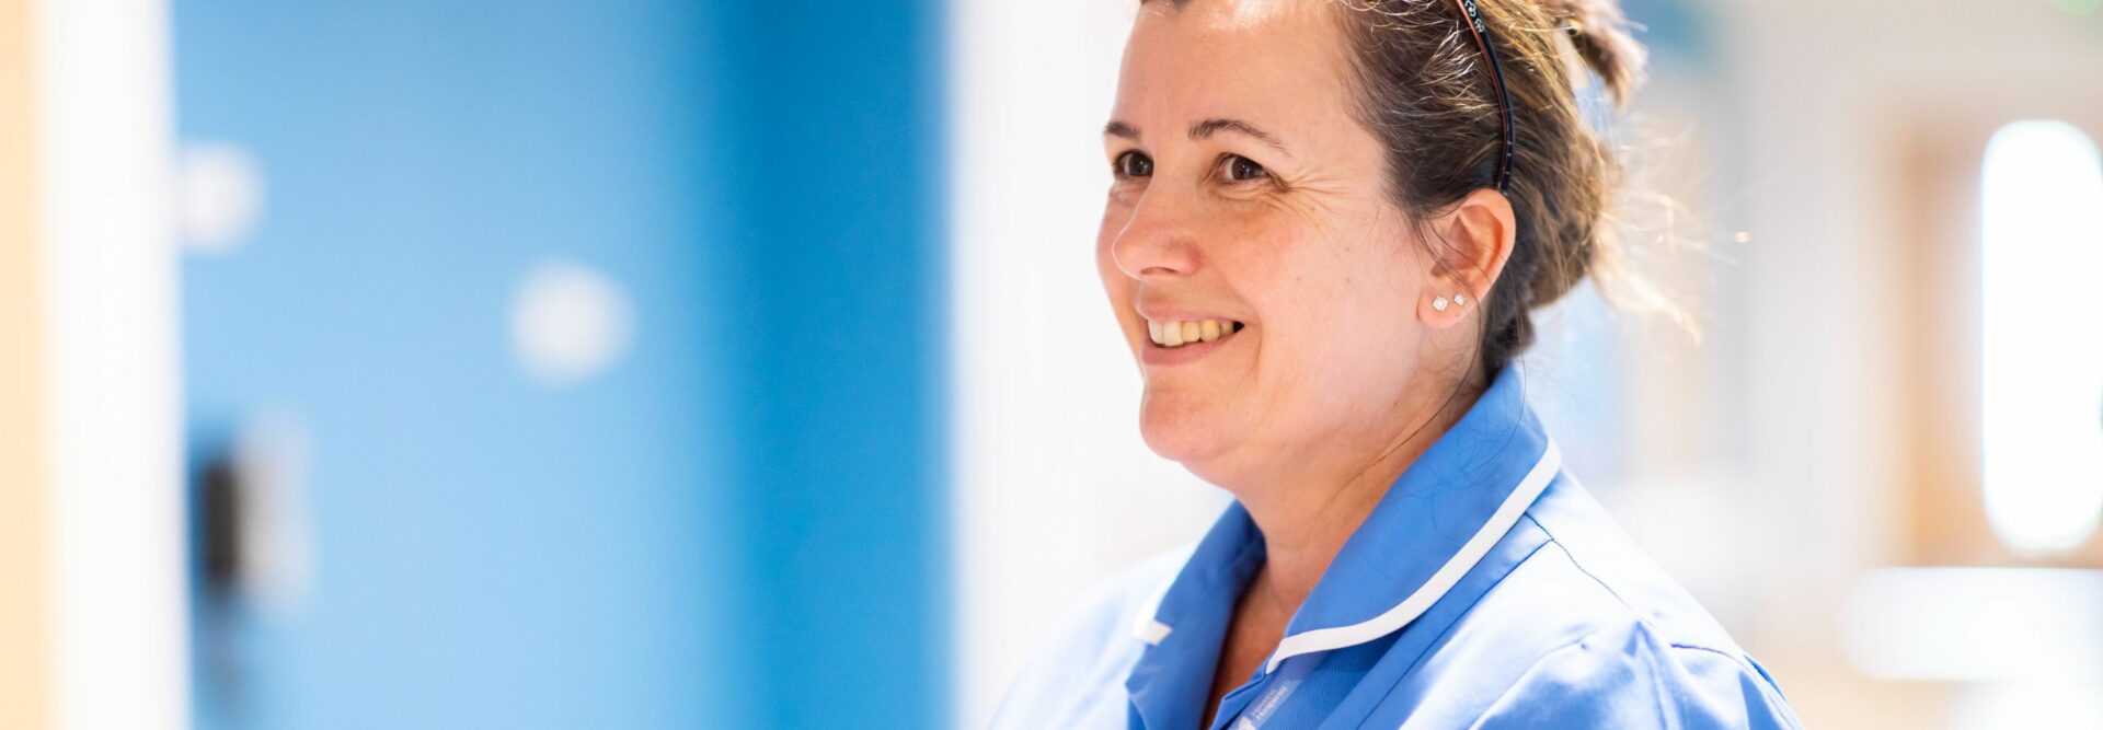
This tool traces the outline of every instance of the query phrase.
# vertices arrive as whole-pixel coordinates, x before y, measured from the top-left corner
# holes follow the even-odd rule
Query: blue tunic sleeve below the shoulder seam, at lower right
[[[1800,730],[1802,724],[1741,652],[1672,646],[1632,623],[1548,652],[1474,728]]]

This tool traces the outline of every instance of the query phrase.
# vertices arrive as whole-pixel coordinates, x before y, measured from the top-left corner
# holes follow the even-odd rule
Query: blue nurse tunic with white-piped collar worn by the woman
[[[1264,564],[1237,503],[1096,589],[993,728],[1192,730]],[[1563,471],[1504,368],[1388,488],[1211,728],[1800,728],[1775,680]]]

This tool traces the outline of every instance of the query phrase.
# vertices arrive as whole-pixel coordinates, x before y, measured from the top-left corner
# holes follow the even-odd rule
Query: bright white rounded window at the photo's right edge
[[[2103,164],[2063,122],[2002,126],[1981,181],[1985,513],[2010,547],[2103,513]]]

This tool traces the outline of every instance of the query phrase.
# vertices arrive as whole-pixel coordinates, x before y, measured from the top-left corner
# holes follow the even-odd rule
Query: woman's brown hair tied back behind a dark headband
[[[1392,196],[1424,225],[1470,191],[1495,187],[1499,99],[1455,0],[1340,0],[1359,86],[1359,122],[1388,149]],[[1506,198],[1516,242],[1481,303],[1487,379],[1533,345],[1533,309],[1611,265],[1607,219],[1621,164],[1579,114],[1575,53],[1615,103],[1642,78],[1642,46],[1615,0],[1476,0],[1512,103]],[[1428,234],[1428,231],[1426,231]],[[1430,240],[1430,236],[1426,236]]]

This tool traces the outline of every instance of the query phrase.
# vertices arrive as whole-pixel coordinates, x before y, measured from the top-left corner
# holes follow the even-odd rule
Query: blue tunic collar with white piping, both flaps
[[[1560,452],[1527,408],[1518,368],[1504,368],[1344,543],[1287,623],[1264,673],[1287,658],[1367,644],[1415,621],[1504,539],[1560,465]],[[1182,572],[1142,604],[1134,635],[1150,648],[1125,682],[1142,713],[1184,705],[1176,698],[1195,696],[1190,707],[1205,703],[1234,602],[1262,560],[1264,536],[1237,501]]]

